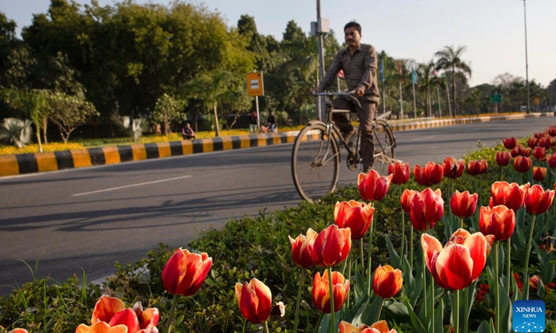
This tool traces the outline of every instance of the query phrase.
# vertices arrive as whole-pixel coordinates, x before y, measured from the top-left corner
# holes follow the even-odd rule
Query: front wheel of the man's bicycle
[[[297,193],[313,203],[336,189],[340,151],[324,124],[303,128],[293,144],[291,173]]]

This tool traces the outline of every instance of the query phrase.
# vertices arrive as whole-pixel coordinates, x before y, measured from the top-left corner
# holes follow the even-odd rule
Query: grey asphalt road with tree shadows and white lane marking
[[[395,133],[396,157],[425,164],[504,137],[525,137],[551,117]],[[291,144],[0,178],[0,294],[50,275],[97,280],[159,243],[179,247],[209,227],[300,202]],[[345,155],[344,155],[345,156]],[[355,182],[342,161],[341,183]]]

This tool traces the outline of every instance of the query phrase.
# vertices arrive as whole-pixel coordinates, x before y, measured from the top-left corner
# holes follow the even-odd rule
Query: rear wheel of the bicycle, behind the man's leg
[[[395,160],[395,137],[386,121],[377,120],[374,125],[375,161],[373,169],[381,176],[388,175],[388,165]]]

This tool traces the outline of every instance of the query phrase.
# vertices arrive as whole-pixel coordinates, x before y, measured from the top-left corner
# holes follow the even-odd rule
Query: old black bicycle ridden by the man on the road
[[[332,96],[350,96],[357,101],[354,91],[351,92],[313,92],[314,96],[327,96],[326,121],[312,120],[300,130],[295,138],[291,156],[291,172],[295,189],[300,196],[310,203],[332,193],[340,177],[340,149],[341,144],[347,150],[347,169],[361,172],[363,159],[361,157],[361,131],[357,130],[357,139],[346,142],[341,131],[332,121],[332,114],[336,112],[350,112],[350,110],[334,109]],[[359,101],[357,101],[359,103]],[[375,142],[375,160],[373,169],[382,175],[388,171],[388,164],[396,162],[395,137],[392,128],[386,122],[386,112],[373,120],[373,138]]]

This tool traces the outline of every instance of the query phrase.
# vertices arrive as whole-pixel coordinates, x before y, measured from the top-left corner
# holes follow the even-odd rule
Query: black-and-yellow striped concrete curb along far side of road
[[[391,123],[392,129],[416,130],[453,126],[462,123],[481,123],[485,121],[524,119],[529,117],[552,117],[553,113],[512,114],[508,116],[470,117],[458,119],[441,119],[414,121],[411,123]],[[17,176],[26,173],[56,171],[72,168],[92,167],[94,165],[116,164],[163,158],[170,156],[229,151],[233,149],[291,144],[299,132],[261,133],[172,141],[151,144],[132,144],[130,146],[111,146],[88,148],[72,151],[55,151],[51,153],[30,153],[17,155],[0,155],[0,176]]]

